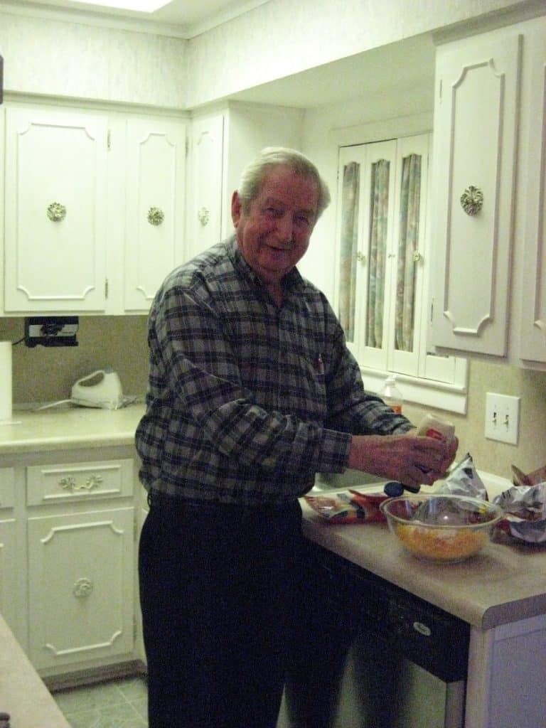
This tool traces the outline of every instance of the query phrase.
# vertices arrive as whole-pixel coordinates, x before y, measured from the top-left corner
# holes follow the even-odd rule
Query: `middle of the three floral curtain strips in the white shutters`
[[[387,217],[389,213],[389,172],[387,159],[371,166],[370,253],[368,261],[368,316],[366,346],[383,345],[385,264],[387,258]]]

